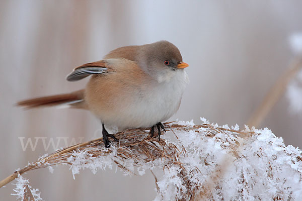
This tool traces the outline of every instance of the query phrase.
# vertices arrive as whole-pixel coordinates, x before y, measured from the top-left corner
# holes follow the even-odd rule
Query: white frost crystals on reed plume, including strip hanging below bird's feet
[[[161,166],[164,175],[157,182],[155,200],[189,200],[192,197],[206,200],[299,200],[302,196],[301,150],[286,147],[270,130],[254,130],[248,138],[241,138],[236,132],[238,125],[232,129],[228,125],[218,127],[213,124],[196,127],[193,121],[180,121],[178,125],[186,129],[173,129],[178,137],[173,143],[179,150],[185,150],[178,155],[177,161],[165,159],[139,163],[132,158],[118,160],[117,147],[112,147],[114,151],[110,154],[97,158],[87,150],[75,151],[68,158],[72,173],[77,174],[82,168],[90,168],[95,173],[97,169],[112,168],[113,161],[131,171],[137,167],[139,175],[146,169]],[[135,154],[136,151],[132,151]]]

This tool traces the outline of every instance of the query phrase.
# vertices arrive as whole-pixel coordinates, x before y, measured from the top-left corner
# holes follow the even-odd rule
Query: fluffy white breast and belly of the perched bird
[[[117,127],[120,131],[127,128],[146,128],[174,115],[189,79],[185,70],[171,72],[173,74],[160,77],[158,83],[137,95],[133,103],[122,108],[118,115],[105,118],[107,128]]]

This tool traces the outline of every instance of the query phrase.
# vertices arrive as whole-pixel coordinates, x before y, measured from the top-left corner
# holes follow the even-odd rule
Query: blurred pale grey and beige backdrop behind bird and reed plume
[[[199,117],[219,125],[243,125],[294,58],[288,37],[302,31],[301,1],[1,1],[0,179],[44,153],[22,149],[28,138],[64,137],[71,143],[101,136],[100,121],[82,110],[24,111],[18,100],[81,89],[88,79],[67,82],[76,66],[101,60],[120,46],[159,40],[181,51],[190,85],[171,120]],[[283,96],[261,124],[286,144],[302,145],[302,117]],[[64,147],[63,140],[58,144]],[[45,200],[152,200],[154,177],[84,170],[72,178],[67,166],[24,175]],[[10,183],[1,200],[15,200]]]

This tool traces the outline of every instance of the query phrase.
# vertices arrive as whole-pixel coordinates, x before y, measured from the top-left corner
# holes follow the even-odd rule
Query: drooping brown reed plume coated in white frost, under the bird
[[[26,170],[67,164],[74,175],[115,163],[127,175],[163,170],[155,200],[300,200],[300,149],[285,146],[269,129],[240,131],[238,125],[219,127],[202,120],[201,125],[166,123],[173,140],[168,134],[159,141],[148,131],[127,130],[115,134],[119,143],[110,149],[100,138],[46,155]],[[18,182],[28,181],[21,177]],[[15,195],[22,197],[23,184],[17,184]]]

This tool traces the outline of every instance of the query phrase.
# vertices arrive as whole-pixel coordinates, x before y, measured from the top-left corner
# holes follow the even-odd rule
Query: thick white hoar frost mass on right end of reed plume
[[[192,126],[192,122],[187,125]],[[228,130],[227,126],[223,128]],[[233,128],[239,129],[238,125]],[[255,134],[245,139],[231,131],[208,137],[207,129],[196,130],[175,131],[177,144],[190,150],[179,162],[191,187],[202,189],[214,180],[207,200],[300,200],[302,166],[297,157],[301,150],[286,147],[268,129],[254,130]],[[237,142],[241,144],[239,147]],[[189,189],[184,186],[181,170],[174,167],[164,171],[156,200],[184,198]]]

